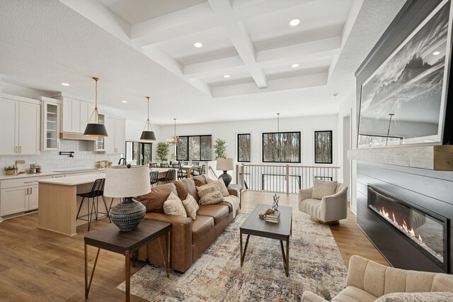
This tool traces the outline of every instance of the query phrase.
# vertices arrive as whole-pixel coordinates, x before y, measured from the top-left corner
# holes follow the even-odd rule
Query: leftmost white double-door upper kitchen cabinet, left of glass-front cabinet
[[[40,102],[4,94],[0,100],[0,155],[40,153]]]

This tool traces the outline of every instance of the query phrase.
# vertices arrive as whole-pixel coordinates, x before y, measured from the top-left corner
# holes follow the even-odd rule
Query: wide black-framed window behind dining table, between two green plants
[[[178,160],[212,160],[212,135],[180,136],[176,146]]]

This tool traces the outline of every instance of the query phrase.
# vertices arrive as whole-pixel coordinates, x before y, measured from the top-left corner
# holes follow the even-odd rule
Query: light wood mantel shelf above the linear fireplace
[[[411,145],[348,150],[349,160],[453,171],[453,145]]]

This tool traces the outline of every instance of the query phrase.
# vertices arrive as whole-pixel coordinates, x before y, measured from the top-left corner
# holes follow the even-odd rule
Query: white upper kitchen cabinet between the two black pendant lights
[[[125,120],[105,116],[105,129],[108,137],[104,138],[104,149],[107,154],[125,153]]]

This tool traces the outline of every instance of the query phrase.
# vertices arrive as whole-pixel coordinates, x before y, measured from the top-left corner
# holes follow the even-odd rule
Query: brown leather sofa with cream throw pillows
[[[137,196],[147,208],[145,219],[171,223],[171,262],[172,269],[185,272],[195,259],[222,233],[234,220],[230,203],[222,201],[212,205],[200,205],[196,220],[191,218],[166,215],[164,202],[171,192],[184,200],[187,194],[200,201],[195,186],[206,184],[204,176],[173,181],[170,184],[155,186],[149,194]],[[228,188],[230,195],[238,196],[239,191]],[[239,210],[236,212],[238,214]],[[149,244],[149,262],[165,266],[165,235]],[[139,259],[146,259],[146,247],[139,250]]]

